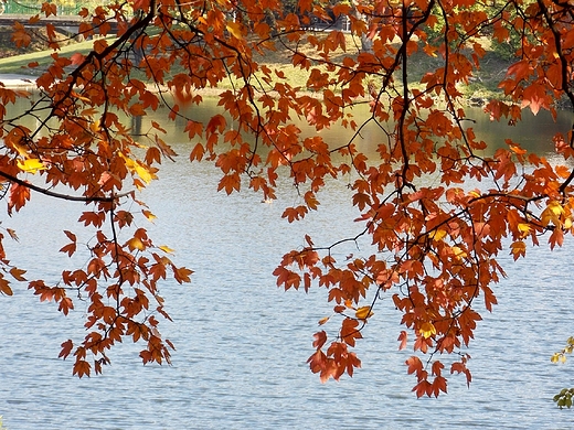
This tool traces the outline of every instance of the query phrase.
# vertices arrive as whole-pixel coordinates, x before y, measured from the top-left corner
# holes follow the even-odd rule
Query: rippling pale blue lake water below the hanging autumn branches
[[[557,127],[544,123],[533,128]],[[528,133],[533,144],[551,148],[536,136]],[[181,160],[167,164],[144,196],[158,219],[141,224],[195,271],[191,286],[162,286],[174,320],[162,321],[177,346],[172,366],[144,367],[138,348],[126,343],[111,351],[104,375],[77,379],[72,361],[56,357],[61,342],[83,336],[82,305],[64,318],[22,283],[12,298],[0,297],[0,415],[9,430],[574,427],[574,411],[552,401],[560,388],[574,386],[574,357],[550,363],[574,334],[572,240],[553,252],[529,250],[517,264],[504,254],[509,278],[495,287],[500,304],[485,314],[468,350],[470,388],[453,376],[447,395],[416,399],[415,379],[403,365],[411,353],[396,351],[400,314],[390,299],[380,302],[358,343],[362,368],[322,385],[306,359],[317,321],[332,305],[325,290],[277,289],[272,271],[285,251],[302,245],[304,233],[327,243],[361,228],[352,223],[346,181],[332,181],[320,211],[289,225],[280,219],[283,207],[297,200],[289,186],[273,204],[249,192],[217,194],[219,173],[187,162],[183,144],[177,150]],[[61,230],[74,229],[82,211],[34,194],[14,218],[1,215],[2,226],[20,236],[18,247],[7,244],[17,252],[12,262],[30,279],[57,280],[70,265],[57,252],[67,241]]]

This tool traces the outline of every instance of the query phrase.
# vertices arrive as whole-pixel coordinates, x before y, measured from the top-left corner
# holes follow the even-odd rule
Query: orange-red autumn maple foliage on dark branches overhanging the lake
[[[42,6],[43,15],[55,12],[53,3]],[[87,204],[78,218],[78,228],[96,237],[87,265],[62,271],[57,284],[29,283],[64,314],[74,297],[89,302],[85,338],[64,342],[61,357],[74,356],[79,377],[100,373],[106,351],[129,337],[144,344],[144,363],[170,359],[173,345],[156,319],[169,319],[159,284],[168,277],[189,282],[192,271],[134,219],[153,218],[138,192],[176,153],[160,123],[134,136],[125,121],[167,105],[169,120],[185,123],[190,160],[221,169],[220,191],[247,187],[273,200],[279,175],[289,176],[301,204],[285,209],[288,222],[318,209],[328,178],[348,179],[360,236],[376,252],[341,259],[338,245],[358,237],[341,233],[341,241],[316,245],[306,236],[307,245],[287,251],[274,272],[285,289],[328,290],[333,315],[319,322],[325,330],[309,357],[321,380],[360,366],[353,348],[361,329],[390,297],[403,315],[398,347],[415,352],[406,365],[416,395],[446,393],[448,374],[469,384],[463,351],[480,312],[497,303],[499,254],[510,246],[518,259],[543,235],[553,248],[574,232],[574,136],[549,136],[552,163],[510,139],[488,154],[461,88],[480,68],[485,43],[511,42],[503,97],[485,106],[491,119],[519,123],[524,108],[555,115],[556,100],[574,106],[573,13],[560,0],[128,0],[83,9],[79,33],[94,37],[93,51],[71,57],[59,55],[55,28],[46,24],[54,52],[36,80],[39,95],[0,87],[0,178],[12,216],[33,192]],[[17,45],[29,43],[23,24],[13,30]],[[307,74],[304,87],[266,64],[276,51]],[[437,66],[412,77],[415,53]],[[227,116],[206,122],[185,116],[182,107],[201,105],[208,89],[219,89]],[[18,98],[30,98],[30,108],[11,116]],[[370,115],[357,116],[358,106]],[[23,117],[38,118],[36,126],[23,126]],[[354,138],[334,147],[305,135],[296,117],[317,131],[346,127]],[[386,137],[374,158],[358,143],[368,126]],[[64,233],[70,243],[61,251],[73,256],[76,234]],[[4,229],[0,239],[9,236],[15,233]],[[0,257],[0,291],[10,295],[25,271],[3,248]]]

